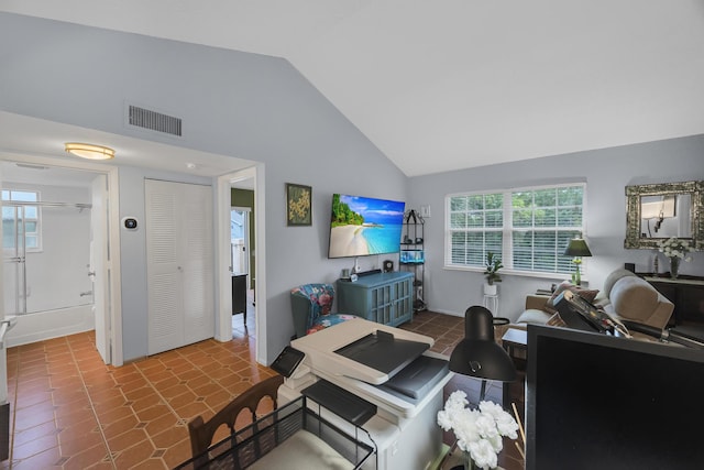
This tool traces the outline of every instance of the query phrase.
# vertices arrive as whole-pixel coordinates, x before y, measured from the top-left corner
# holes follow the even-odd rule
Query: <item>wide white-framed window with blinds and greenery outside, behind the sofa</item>
[[[501,254],[506,270],[571,273],[570,239],[584,232],[584,184],[466,193],[446,197],[446,267],[485,266]]]

